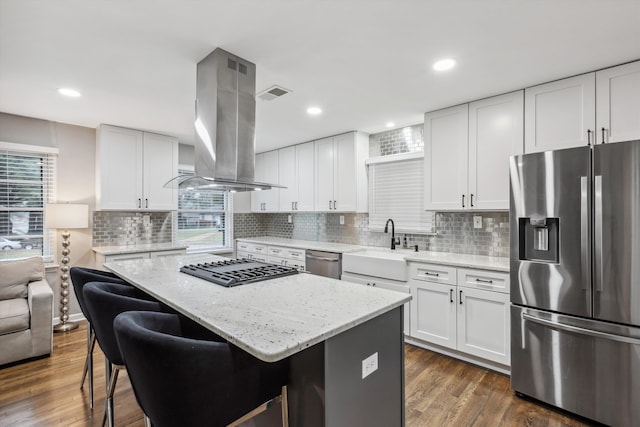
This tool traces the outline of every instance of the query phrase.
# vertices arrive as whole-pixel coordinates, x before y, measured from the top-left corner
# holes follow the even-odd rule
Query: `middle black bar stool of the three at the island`
[[[95,337],[105,355],[105,375],[109,381],[102,425],[108,421],[109,426],[113,427],[113,393],[118,373],[124,369],[124,361],[113,330],[113,320],[118,314],[125,311],[160,311],[163,306],[158,301],[151,300],[151,297],[137,288],[119,283],[89,282],[83,287],[82,293],[91,317]],[[153,355],[153,353],[151,354]]]

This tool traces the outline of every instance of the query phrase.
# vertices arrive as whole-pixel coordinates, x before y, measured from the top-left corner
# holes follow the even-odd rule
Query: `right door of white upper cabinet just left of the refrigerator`
[[[509,209],[509,156],[523,150],[523,91],[469,104],[469,207]]]

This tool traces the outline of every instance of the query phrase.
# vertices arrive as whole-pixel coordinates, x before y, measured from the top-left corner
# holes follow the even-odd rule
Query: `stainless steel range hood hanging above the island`
[[[198,63],[195,174],[165,187],[222,191],[280,187],[255,181],[256,66],[216,49]]]

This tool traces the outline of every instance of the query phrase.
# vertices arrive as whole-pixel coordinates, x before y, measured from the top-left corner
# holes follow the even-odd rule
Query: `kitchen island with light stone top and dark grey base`
[[[289,358],[291,425],[403,426],[402,305],[411,297],[310,274],[225,288],[179,272],[199,254],[105,267],[267,362]]]

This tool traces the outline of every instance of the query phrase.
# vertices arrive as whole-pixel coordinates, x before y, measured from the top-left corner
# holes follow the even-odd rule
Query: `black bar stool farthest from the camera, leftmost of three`
[[[73,284],[73,292],[76,294],[80,310],[87,319],[87,357],[84,361],[84,369],[82,370],[82,380],[80,381],[80,390],[84,387],[84,380],[89,375],[89,407],[93,409],[93,348],[96,344],[96,336],[91,326],[91,317],[84,302],[82,288],[89,282],[111,282],[126,285],[127,282],[120,279],[113,273],[102,270],[94,270],[85,267],[71,267],[69,271],[71,283]]]

